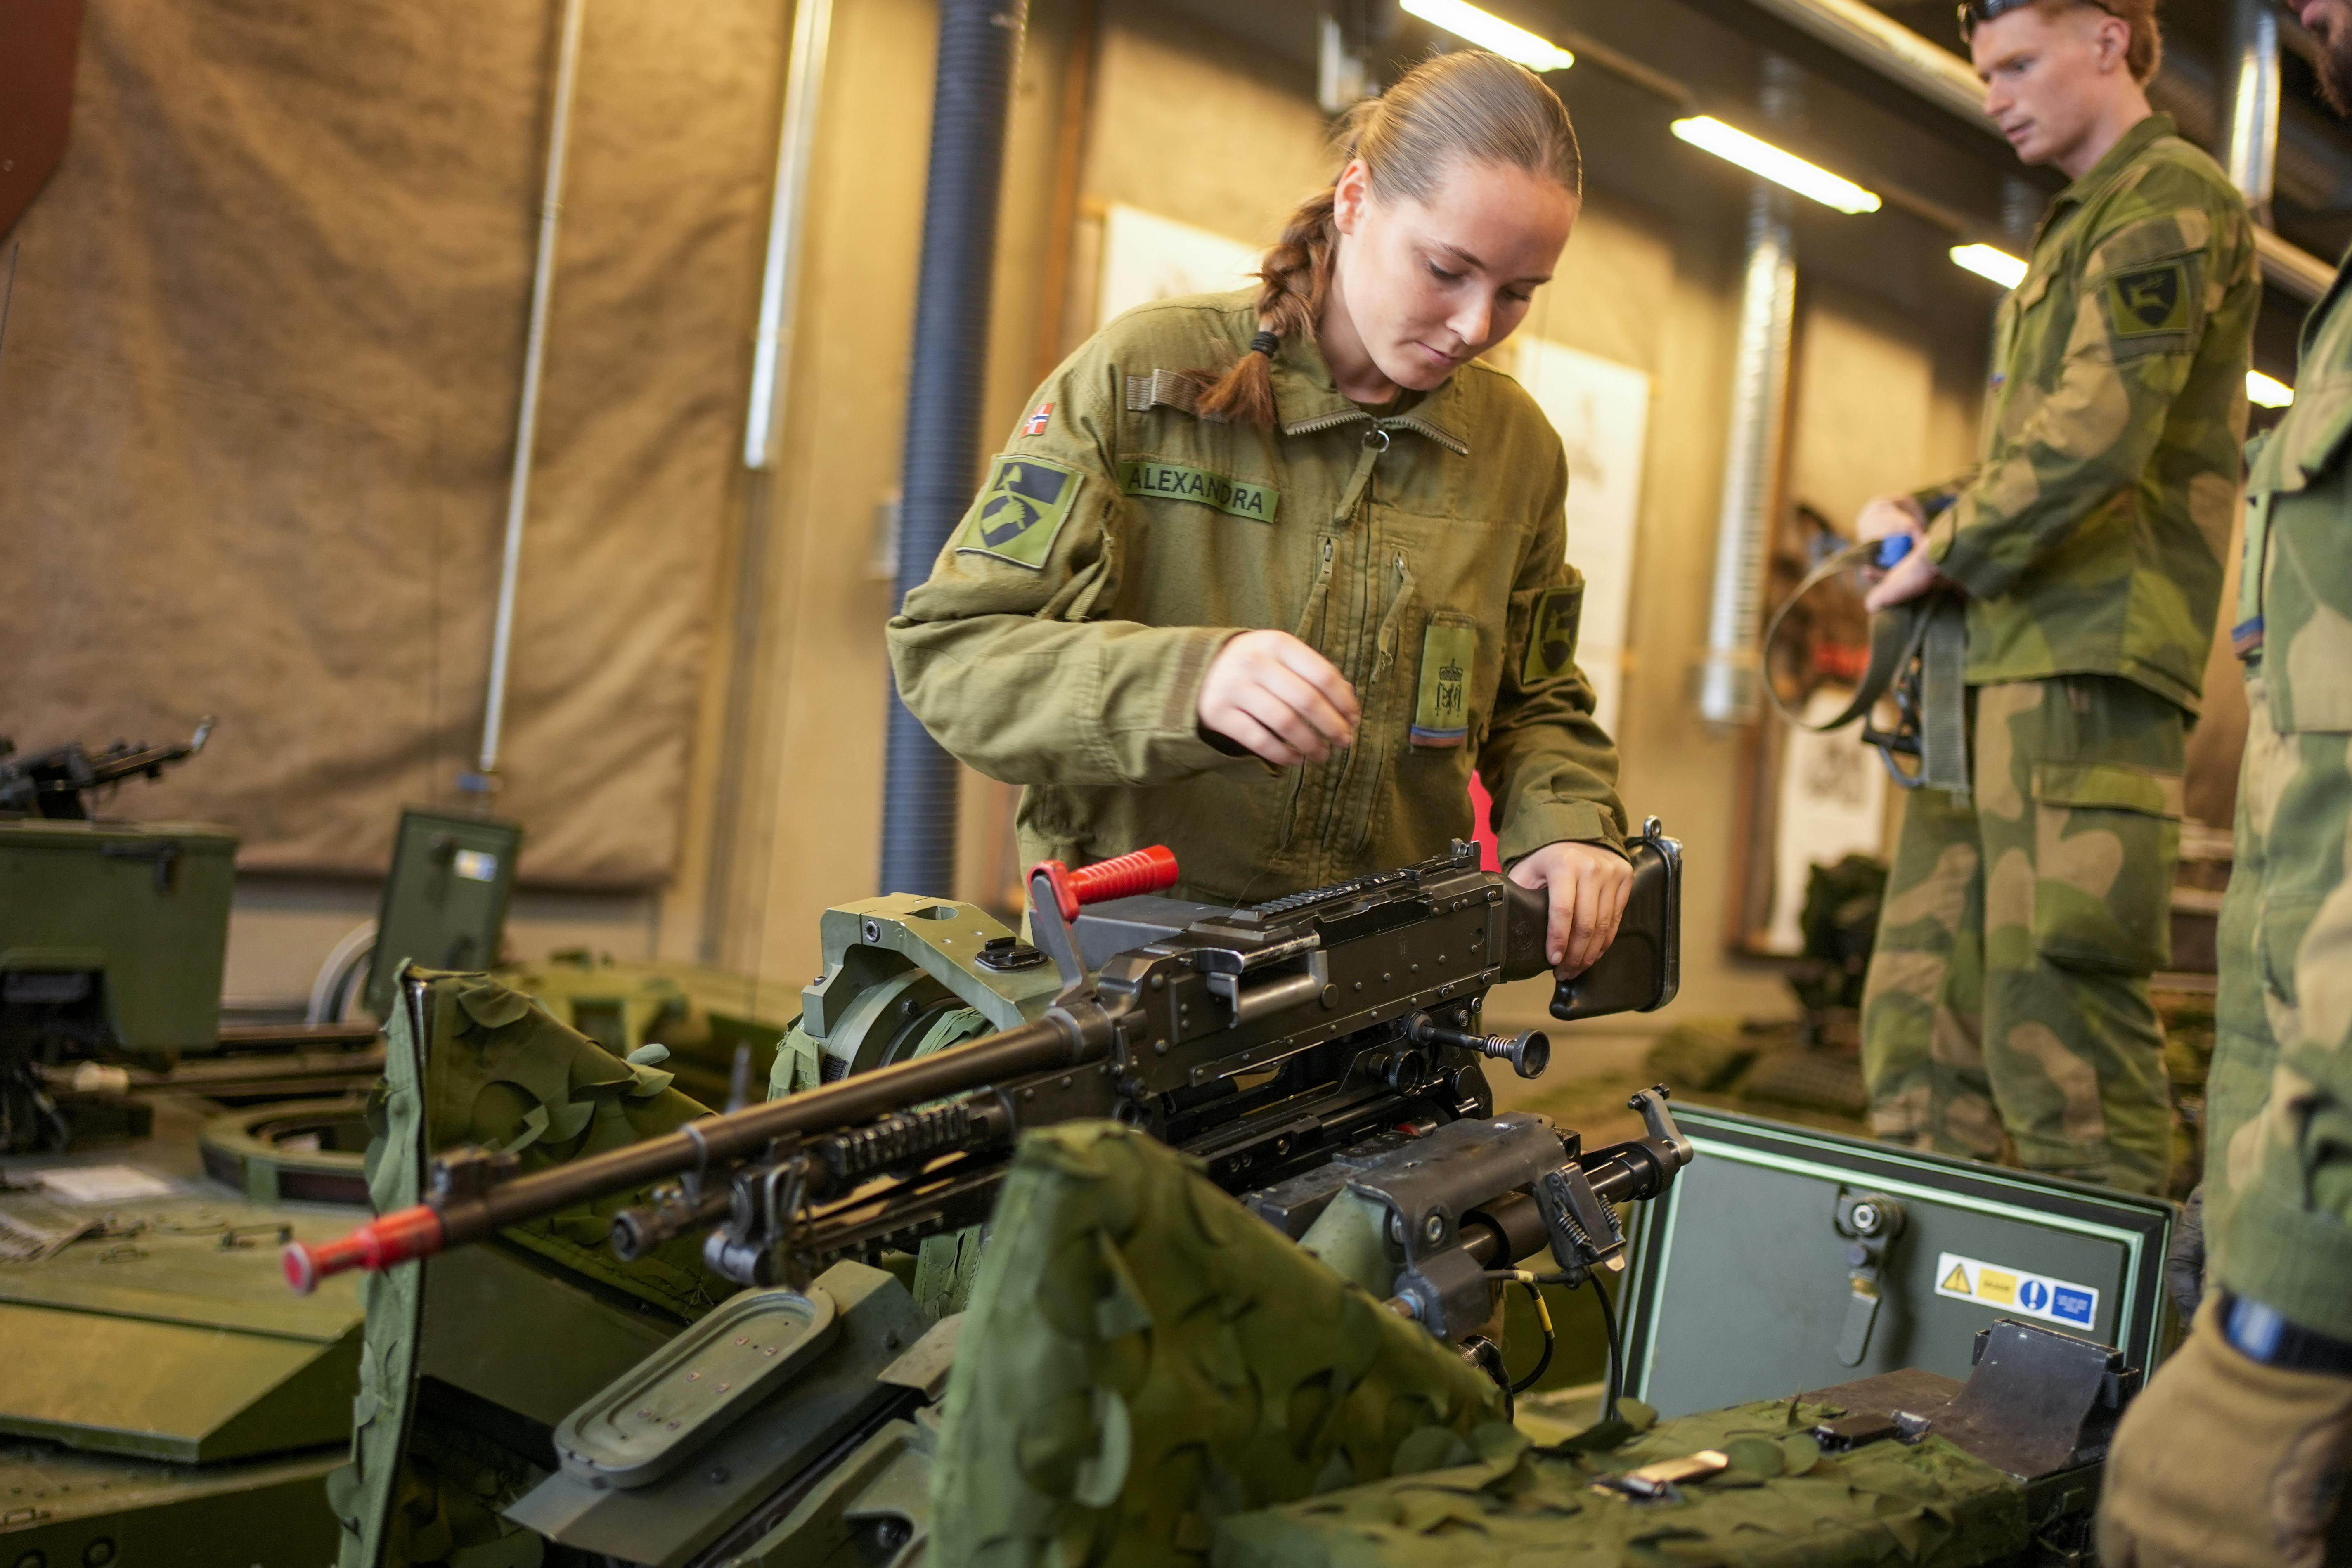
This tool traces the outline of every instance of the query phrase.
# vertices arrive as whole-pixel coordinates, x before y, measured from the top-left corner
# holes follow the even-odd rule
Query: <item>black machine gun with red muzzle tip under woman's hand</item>
[[[1555,1018],[1651,1011],[1675,994],[1682,851],[1656,818],[1628,849],[1635,891],[1621,936],[1599,964],[1559,983]],[[826,1004],[842,997],[858,997],[849,1011],[866,1009],[877,1039],[887,1034],[877,1011],[929,1016],[920,992],[882,992],[896,997],[882,1009],[851,980],[884,940],[910,945],[903,929],[936,922],[943,933],[920,943],[931,973],[967,990],[990,976],[997,990],[976,999],[993,1001],[1000,1023],[1018,1023],[929,1053],[901,1027],[858,1072],[842,1058],[840,1077],[804,1093],[534,1175],[517,1175],[513,1154],[459,1150],[435,1164],[426,1204],[341,1241],[289,1246],[287,1279],[308,1291],[327,1274],[386,1269],[581,1204],[644,1194],[612,1222],[623,1258],[706,1229],[703,1258],[717,1274],[802,1284],[828,1260],[981,1222],[1030,1126],[1117,1119],[1202,1159],[1211,1180],[1240,1194],[1294,1182],[1390,1133],[1484,1119],[1494,1110],[1486,1058],[1522,1077],[1550,1058],[1543,1032],[1477,1032],[1489,987],[1545,971],[1545,896],[1479,870],[1470,844],[1242,910],[1155,896],[1174,882],[1164,849],[1077,872],[1044,863],[1030,879],[1035,947],[1002,929],[988,936],[969,905],[887,898],[835,910],[828,922],[856,929],[835,940],[828,926],[828,973],[807,992],[811,1020],[840,1032],[844,1020],[826,1018]],[[960,917],[967,924],[946,933]],[[407,1006],[419,994],[407,985]],[[421,1018],[412,1025],[423,1030]],[[1545,1164],[1559,1182],[1531,1171],[1524,1180],[1555,1194],[1531,1194],[1541,1204],[1529,1213],[1597,1229],[1595,1260],[1613,1251],[1606,1206],[1656,1194],[1689,1159],[1663,1105],[1635,1145],[1592,1154],[1552,1145],[1557,1159]],[[1439,1208],[1414,1222],[1444,1234],[1423,1232],[1409,1253],[1454,1241],[1463,1215]],[[1494,1267],[1512,1260],[1501,1239],[1491,1251]],[[1444,1291],[1432,1291],[1442,1307]]]

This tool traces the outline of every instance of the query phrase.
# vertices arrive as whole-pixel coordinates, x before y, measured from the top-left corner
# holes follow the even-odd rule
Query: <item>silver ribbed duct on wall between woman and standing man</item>
[[[1724,501],[1715,527],[1708,658],[1698,665],[1696,682],[1698,717],[1724,729],[1757,717],[1762,679],[1757,628],[1764,614],[1764,557],[1780,491],[1795,303],[1797,263],[1790,252],[1788,200],[1759,181],[1748,205],[1748,280],[1740,289]]]

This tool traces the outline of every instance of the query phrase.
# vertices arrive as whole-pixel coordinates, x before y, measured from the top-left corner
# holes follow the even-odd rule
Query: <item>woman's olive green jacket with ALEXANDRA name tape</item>
[[[1197,418],[1181,371],[1230,364],[1254,331],[1251,294],[1174,299],[1054,371],[889,625],[906,705],[1028,785],[1023,860],[1169,844],[1204,900],[1437,853],[1470,837],[1472,766],[1505,860],[1623,846],[1543,411],[1468,364],[1374,416],[1310,343],[1284,343],[1279,428]],[[1355,684],[1352,750],[1272,769],[1202,736],[1209,661],[1251,628],[1303,637]]]

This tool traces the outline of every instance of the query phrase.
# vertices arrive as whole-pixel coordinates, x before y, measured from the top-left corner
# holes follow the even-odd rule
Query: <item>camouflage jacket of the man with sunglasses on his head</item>
[[[2140,120],[2051,202],[1994,322],[1976,468],[1929,529],[1969,590],[1969,684],[2122,675],[2194,712],[2260,303],[2223,172]]]

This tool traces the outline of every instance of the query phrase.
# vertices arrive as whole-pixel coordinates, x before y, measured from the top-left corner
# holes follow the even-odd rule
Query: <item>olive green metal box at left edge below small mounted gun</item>
[[[212,1051],[238,835],[0,818],[0,1034]]]

